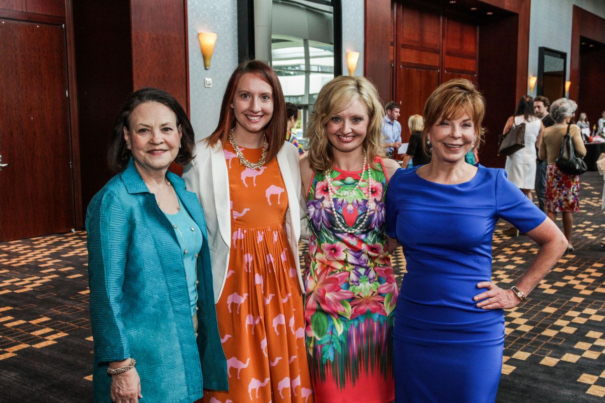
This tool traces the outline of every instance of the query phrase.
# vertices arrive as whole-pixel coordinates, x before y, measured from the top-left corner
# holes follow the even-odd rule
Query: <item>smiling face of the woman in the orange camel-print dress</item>
[[[273,116],[273,89],[260,77],[246,73],[235,87],[232,105],[235,130],[258,134]]]

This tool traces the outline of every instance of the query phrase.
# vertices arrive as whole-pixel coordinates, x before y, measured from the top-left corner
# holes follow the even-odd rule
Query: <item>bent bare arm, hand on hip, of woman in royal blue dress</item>
[[[535,286],[540,283],[540,280],[551,271],[567,247],[565,236],[557,225],[548,218],[538,227],[529,231],[528,236],[540,246],[540,249],[534,262],[515,283],[515,286],[525,295],[529,295]],[[500,288],[494,283],[482,282],[477,287],[488,289],[488,291],[474,297],[475,301],[480,301],[477,306],[481,309],[509,309],[514,308],[521,302],[517,294],[511,289]]]

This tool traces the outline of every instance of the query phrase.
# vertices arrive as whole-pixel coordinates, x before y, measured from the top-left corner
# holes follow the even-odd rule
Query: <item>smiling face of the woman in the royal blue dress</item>
[[[433,159],[459,163],[476,140],[475,125],[467,112],[452,119],[440,117],[429,130],[428,140],[433,147]]]

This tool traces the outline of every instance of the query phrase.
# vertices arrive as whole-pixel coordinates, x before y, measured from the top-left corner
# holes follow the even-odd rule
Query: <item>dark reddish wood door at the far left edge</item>
[[[0,23],[0,242],[74,228],[61,25]]]

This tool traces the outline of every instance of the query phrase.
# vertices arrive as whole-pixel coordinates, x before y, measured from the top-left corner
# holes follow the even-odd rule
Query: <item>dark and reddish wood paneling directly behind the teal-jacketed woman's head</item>
[[[108,143],[126,97],[152,86],[172,94],[189,112],[186,1],[74,2],[82,204],[114,175]],[[111,55],[111,56],[108,56]],[[173,164],[174,165],[174,164]],[[174,171],[182,172],[180,166]]]

